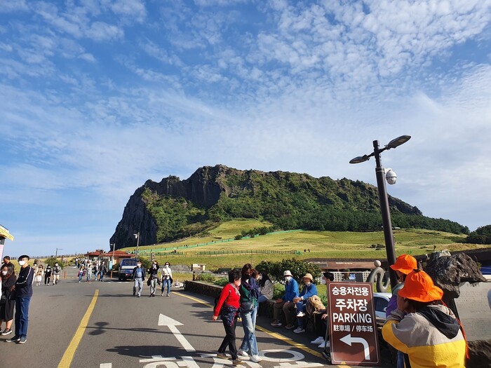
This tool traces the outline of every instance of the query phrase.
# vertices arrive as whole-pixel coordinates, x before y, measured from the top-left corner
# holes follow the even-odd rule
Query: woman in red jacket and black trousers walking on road
[[[237,357],[237,347],[235,344],[235,327],[237,325],[237,312],[240,306],[241,294],[238,292],[238,287],[241,286],[241,271],[233,269],[229,272],[229,284],[225,285],[215,307],[213,320],[218,319],[218,315],[222,318],[223,327],[225,329],[225,337],[222,345],[218,348],[217,357],[228,359],[225,354],[227,345],[229,346],[230,355],[232,356],[232,364],[241,364],[241,360]]]

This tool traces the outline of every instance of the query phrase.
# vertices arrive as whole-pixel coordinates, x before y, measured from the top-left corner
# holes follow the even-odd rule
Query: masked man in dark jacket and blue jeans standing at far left
[[[32,282],[34,270],[29,264],[29,256],[24,254],[19,257],[19,277],[11,292],[15,291],[15,336],[8,342],[25,343],[27,341],[27,322],[29,321],[29,303],[32,297]]]

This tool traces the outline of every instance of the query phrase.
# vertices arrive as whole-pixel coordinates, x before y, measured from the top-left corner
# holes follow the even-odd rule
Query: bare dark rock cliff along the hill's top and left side
[[[289,181],[292,176],[295,176],[296,182]],[[159,183],[147,180],[128,200],[123,217],[109,241],[116,244],[116,249],[133,247],[136,245],[133,234],[140,232],[140,245],[157,243],[158,226],[142,198],[142,194],[147,189],[159,196],[185,198],[199,207],[210,208],[218,203],[222,193],[227,198],[236,198],[243,191],[247,191],[249,196],[255,196],[255,193],[258,196],[270,196],[269,192],[262,188],[264,183],[273,190],[278,190],[278,188],[293,192],[299,188],[303,191],[307,190],[325,205],[341,203],[345,209],[358,208],[372,211],[378,206],[377,189],[362,182],[353,182],[349,179],[335,181],[328,177],[315,179],[309,175],[281,171],[236,170],[224,165],[205,166],[196,170],[189,179],[180,180],[178,177],[170,176]],[[295,186],[292,186],[292,183]],[[316,186],[316,188],[311,188],[311,186]],[[331,198],[322,198],[322,195],[317,192],[319,188],[321,190],[334,188],[332,189],[334,195]],[[277,196],[278,193],[273,193],[273,195]],[[370,198],[370,200],[364,205],[358,205],[361,198]],[[281,200],[281,198],[277,199]],[[390,197],[389,204],[398,212],[421,214],[417,207],[412,207],[397,198]]]

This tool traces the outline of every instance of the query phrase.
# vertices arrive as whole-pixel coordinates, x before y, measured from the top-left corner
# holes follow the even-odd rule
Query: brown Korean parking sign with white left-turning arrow
[[[330,282],[328,298],[332,364],[379,364],[372,285]]]

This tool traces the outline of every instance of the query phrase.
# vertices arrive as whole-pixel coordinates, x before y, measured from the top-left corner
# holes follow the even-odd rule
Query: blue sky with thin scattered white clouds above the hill
[[[491,224],[491,2],[0,0],[5,254],[109,249],[147,179],[222,163]]]

